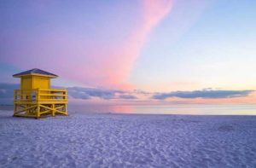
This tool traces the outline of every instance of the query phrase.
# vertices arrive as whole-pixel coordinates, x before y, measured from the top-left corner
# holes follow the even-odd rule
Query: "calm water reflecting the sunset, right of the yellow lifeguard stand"
[[[152,113],[192,115],[256,115],[256,105],[69,105],[69,111],[83,113]]]

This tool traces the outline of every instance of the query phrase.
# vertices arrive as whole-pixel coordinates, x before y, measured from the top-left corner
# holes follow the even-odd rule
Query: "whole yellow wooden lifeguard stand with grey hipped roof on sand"
[[[67,90],[50,88],[50,79],[57,75],[35,68],[13,77],[20,78],[20,90],[15,90],[14,116],[38,119],[49,114],[67,115]]]

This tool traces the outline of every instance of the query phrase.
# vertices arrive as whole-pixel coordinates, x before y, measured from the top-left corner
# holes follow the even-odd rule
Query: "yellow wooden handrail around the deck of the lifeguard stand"
[[[63,90],[63,89],[15,90],[14,101],[67,101],[67,90]]]

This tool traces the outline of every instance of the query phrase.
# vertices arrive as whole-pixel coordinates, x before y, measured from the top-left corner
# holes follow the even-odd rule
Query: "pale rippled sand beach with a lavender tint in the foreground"
[[[1,167],[256,167],[256,117],[0,111]]]

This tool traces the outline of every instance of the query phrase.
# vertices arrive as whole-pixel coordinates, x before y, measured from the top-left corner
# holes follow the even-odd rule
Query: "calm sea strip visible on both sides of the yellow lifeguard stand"
[[[14,111],[11,104],[0,104],[2,111]],[[190,107],[145,107],[145,106],[68,106],[74,113],[112,113],[112,114],[156,114],[156,115],[192,115],[192,116],[256,116],[256,106],[190,106]]]

